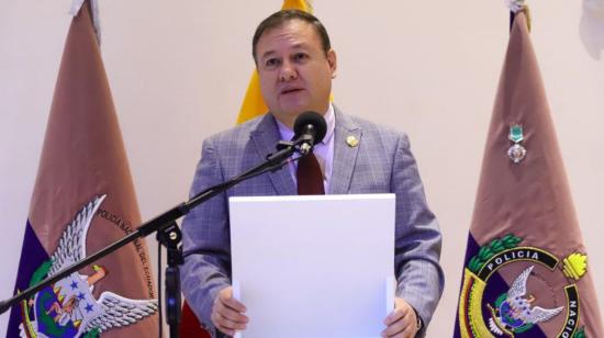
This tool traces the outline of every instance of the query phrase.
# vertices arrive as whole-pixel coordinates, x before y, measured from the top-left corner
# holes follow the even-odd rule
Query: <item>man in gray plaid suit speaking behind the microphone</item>
[[[313,15],[300,11],[270,15],[256,30],[253,55],[270,113],[204,140],[191,194],[261,162],[275,151],[277,142],[291,138],[293,122],[302,112],[324,114],[327,134],[314,154],[325,191],[396,194],[398,288],[395,308],[384,319],[382,336],[422,335],[443,293],[441,238],[406,135],[347,115],[329,102],[336,54],[323,24]],[[249,320],[245,305],[232,295],[227,199],[294,195],[294,167],[290,164],[290,168],[242,182],[184,218],[184,251],[197,255],[184,261],[182,290],[197,316],[214,334],[217,329],[234,335]],[[317,296],[328,301],[328,295]]]

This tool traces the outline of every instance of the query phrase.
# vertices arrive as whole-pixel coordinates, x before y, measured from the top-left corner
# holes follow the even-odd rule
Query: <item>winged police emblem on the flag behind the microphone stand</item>
[[[107,195],[85,205],[63,232],[51,259],[33,273],[30,285],[59,272],[86,257],[86,237],[92,217]],[[156,300],[130,300],[110,291],[94,298],[94,283],[110,271],[93,266],[90,275],[71,273],[21,303],[22,337],[99,337],[102,331],[124,327],[157,312]]]

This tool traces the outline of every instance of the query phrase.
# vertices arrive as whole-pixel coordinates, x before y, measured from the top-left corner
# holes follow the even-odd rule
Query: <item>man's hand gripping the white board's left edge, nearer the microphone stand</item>
[[[228,336],[243,330],[249,319],[244,315],[245,305],[233,297],[233,288],[227,286],[219,292],[212,305],[211,319],[214,326]]]

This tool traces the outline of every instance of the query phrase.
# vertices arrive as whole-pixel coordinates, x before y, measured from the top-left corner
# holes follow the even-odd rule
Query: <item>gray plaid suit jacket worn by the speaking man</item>
[[[424,195],[409,138],[402,133],[353,117],[335,108],[334,162],[331,194],[396,194],[394,269],[396,295],[405,298],[428,324],[443,293],[439,266],[441,238]],[[359,139],[357,147],[346,137]],[[221,183],[275,153],[280,134],[266,114],[216,134],[203,143],[191,195]],[[212,329],[210,314],[217,292],[231,284],[228,196],[295,195],[287,168],[242,182],[194,209],[183,221],[182,291],[198,317]],[[321,296],[321,295],[318,295]]]

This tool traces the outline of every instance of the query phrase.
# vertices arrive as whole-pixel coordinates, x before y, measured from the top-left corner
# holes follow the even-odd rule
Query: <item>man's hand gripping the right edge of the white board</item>
[[[394,311],[385,317],[383,324],[387,328],[382,331],[382,337],[413,338],[417,334],[415,311],[400,297],[394,298]]]

